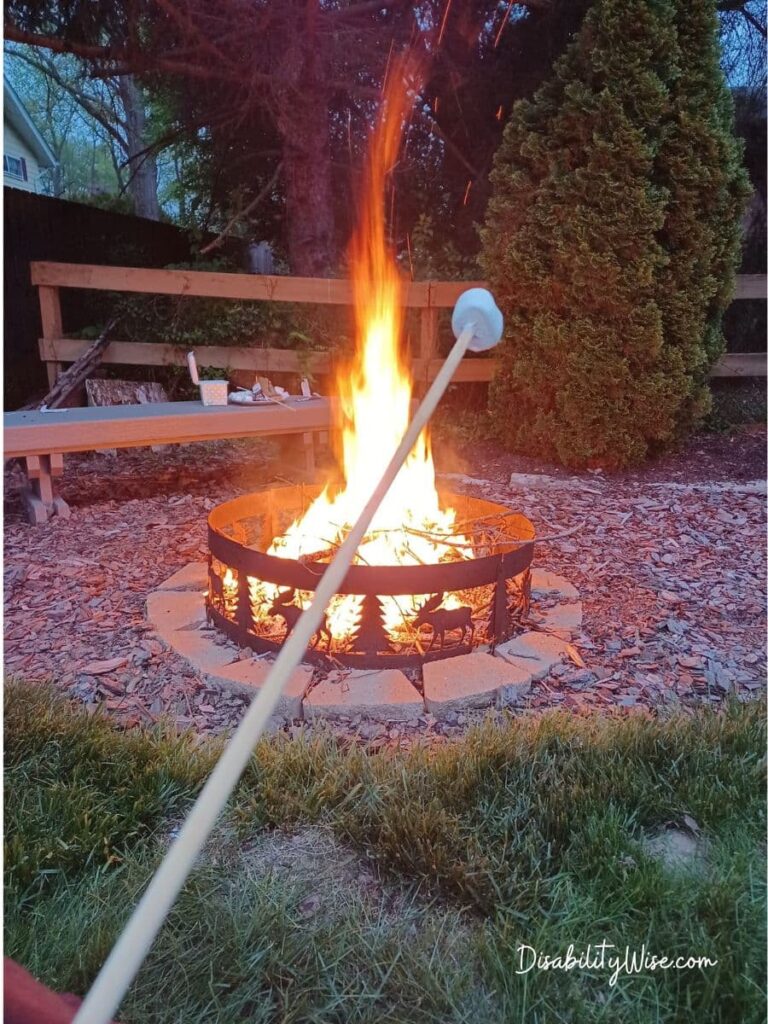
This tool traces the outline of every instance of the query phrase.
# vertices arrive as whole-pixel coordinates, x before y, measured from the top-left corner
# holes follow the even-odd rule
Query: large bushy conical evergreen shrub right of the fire
[[[511,449],[623,466],[706,412],[745,194],[714,17],[711,0],[597,0],[514,109],[482,231]]]

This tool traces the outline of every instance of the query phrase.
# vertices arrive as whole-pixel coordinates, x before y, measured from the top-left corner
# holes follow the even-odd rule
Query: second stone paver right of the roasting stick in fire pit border
[[[511,703],[529,689],[529,672],[492,654],[461,654],[424,666],[424,701],[435,718],[450,712]]]

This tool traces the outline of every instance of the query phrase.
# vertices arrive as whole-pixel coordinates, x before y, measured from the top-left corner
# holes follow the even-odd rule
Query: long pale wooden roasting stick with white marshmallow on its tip
[[[109,1024],[120,1006],[176,897],[181,891],[216,819],[238,784],[253,749],[274,711],[283,687],[301,662],[321,625],[329,601],[352,564],[357,547],[379,505],[434,413],[456,368],[468,348],[490,348],[502,335],[503,321],[493,296],[484,289],[470,289],[460,296],[453,317],[457,340],[424,395],[402,440],[379,480],[359,518],[347,534],[323,573],[312,603],[284,643],[266,682],[204,785],[181,830],[147,886],[120,938],[104,962],[78,1011],[73,1024]]]

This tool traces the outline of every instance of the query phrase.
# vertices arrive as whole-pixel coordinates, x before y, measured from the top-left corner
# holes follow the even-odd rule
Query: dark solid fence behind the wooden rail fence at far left
[[[3,188],[5,208],[5,409],[45,389],[38,354],[40,307],[30,282],[32,260],[162,267],[191,258],[186,231],[172,224]],[[63,323],[76,331],[94,323],[92,294],[65,290]]]

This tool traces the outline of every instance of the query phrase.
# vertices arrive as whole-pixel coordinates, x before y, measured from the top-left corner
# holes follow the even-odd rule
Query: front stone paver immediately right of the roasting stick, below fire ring
[[[362,715],[379,722],[408,722],[423,714],[421,694],[399,669],[334,672],[304,699],[308,720]]]

